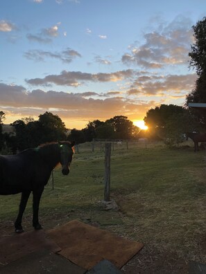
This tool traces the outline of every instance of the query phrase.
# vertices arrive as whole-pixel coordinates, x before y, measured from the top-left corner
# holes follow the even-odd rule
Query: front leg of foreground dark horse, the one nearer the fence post
[[[44,186],[37,190],[33,190],[33,227],[35,228],[35,230],[42,229],[42,226],[39,223],[39,207],[43,191]]]

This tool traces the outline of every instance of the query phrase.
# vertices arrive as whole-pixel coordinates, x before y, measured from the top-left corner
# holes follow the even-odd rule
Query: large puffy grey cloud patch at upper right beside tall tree
[[[191,25],[189,19],[178,16],[167,25],[157,26],[153,32],[144,34],[144,44],[130,46],[130,52],[123,54],[121,61],[145,69],[187,64],[190,44],[193,41]]]

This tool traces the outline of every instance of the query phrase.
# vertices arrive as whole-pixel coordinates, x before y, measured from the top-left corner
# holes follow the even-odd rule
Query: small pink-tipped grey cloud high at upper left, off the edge
[[[55,26],[52,26],[51,28],[42,28],[40,33],[37,33],[36,35],[28,33],[26,37],[28,40],[34,41],[34,42],[39,42],[43,44],[51,43],[54,37],[58,37],[59,25],[60,23],[56,24]]]

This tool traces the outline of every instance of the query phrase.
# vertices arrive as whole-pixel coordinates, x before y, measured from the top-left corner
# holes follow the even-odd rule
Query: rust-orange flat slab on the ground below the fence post
[[[62,249],[59,254],[87,270],[103,259],[121,268],[143,244],[119,237],[78,220],[46,232]]]

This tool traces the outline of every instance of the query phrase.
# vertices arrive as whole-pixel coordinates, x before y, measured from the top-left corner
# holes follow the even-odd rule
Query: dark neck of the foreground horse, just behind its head
[[[53,170],[53,168],[60,163],[60,150],[56,144],[40,147],[38,153],[49,165],[51,170]]]

